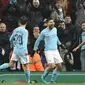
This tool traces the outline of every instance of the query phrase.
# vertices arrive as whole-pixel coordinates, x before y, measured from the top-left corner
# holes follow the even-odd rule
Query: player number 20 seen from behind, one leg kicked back
[[[19,20],[19,27],[17,27],[13,34],[10,37],[10,43],[13,47],[13,54],[9,63],[4,63],[0,65],[0,70],[5,68],[12,68],[16,61],[20,61],[21,64],[24,64],[26,82],[30,83],[30,71],[27,68],[29,63],[28,59],[28,50],[27,50],[27,43],[28,43],[28,31],[25,29],[27,24],[27,18],[22,16]]]

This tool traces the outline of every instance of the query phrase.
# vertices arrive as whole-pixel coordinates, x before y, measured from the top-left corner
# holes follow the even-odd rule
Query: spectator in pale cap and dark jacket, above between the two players
[[[28,17],[28,25],[30,35],[32,34],[33,27],[38,26],[43,22],[44,18],[48,17],[48,9],[43,7],[39,0],[33,0],[31,6],[25,11]]]

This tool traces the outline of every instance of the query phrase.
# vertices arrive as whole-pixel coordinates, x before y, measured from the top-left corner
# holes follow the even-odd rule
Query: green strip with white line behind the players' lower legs
[[[41,75],[43,72],[31,72],[31,81],[37,80],[38,83],[34,85],[47,85],[42,83]],[[51,73],[48,75],[47,81],[49,82],[51,78]],[[25,76],[23,72],[1,72],[0,73],[0,82],[5,80],[4,83],[0,85],[33,85],[33,83],[22,83],[18,80],[25,81]],[[17,81],[17,82],[16,82]],[[85,85],[85,72],[61,72],[57,78],[56,84],[48,85]]]

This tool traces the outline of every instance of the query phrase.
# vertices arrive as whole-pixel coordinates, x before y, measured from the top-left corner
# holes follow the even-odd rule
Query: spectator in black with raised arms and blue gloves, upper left
[[[21,10],[16,0],[10,2],[2,10],[2,21],[6,23],[7,30],[12,32],[18,26],[18,19],[21,16]]]

